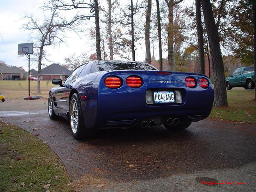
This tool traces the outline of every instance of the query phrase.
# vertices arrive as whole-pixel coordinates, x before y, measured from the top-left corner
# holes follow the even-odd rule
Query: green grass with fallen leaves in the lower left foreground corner
[[[49,147],[1,121],[0,158],[0,191],[72,191],[64,165]]]

